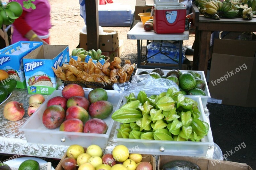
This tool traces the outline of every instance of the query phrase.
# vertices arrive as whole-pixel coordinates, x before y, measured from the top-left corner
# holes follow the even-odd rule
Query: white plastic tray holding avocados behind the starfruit
[[[153,69],[137,69],[136,72],[135,72],[135,75],[139,75],[140,71],[142,70],[147,70],[148,72],[152,72]],[[164,75],[166,75],[168,73],[168,71],[170,70],[163,70],[164,71]],[[188,70],[180,70],[180,72],[187,72]],[[208,99],[211,99],[211,95],[210,95],[210,92],[209,92],[209,88],[208,88],[208,85],[207,85],[207,81],[206,81],[206,78],[205,78],[205,75],[204,75],[204,71],[196,71],[198,72],[200,75],[201,75],[201,79],[204,80],[205,82],[205,96],[200,96],[201,97],[201,100],[202,100],[202,104],[203,104],[203,107],[205,108],[206,105],[207,105],[207,100]],[[186,97],[190,97],[191,95],[185,95]],[[197,95],[194,95],[194,96],[197,96]]]

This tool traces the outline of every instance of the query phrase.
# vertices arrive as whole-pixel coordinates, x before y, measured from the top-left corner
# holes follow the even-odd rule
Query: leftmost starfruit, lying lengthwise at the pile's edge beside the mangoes
[[[112,114],[111,118],[116,122],[130,123],[142,118],[142,114],[133,108],[120,108]]]

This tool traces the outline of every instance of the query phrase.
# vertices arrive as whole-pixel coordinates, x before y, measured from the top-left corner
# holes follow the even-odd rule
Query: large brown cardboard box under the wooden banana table
[[[256,41],[215,39],[209,90],[225,105],[256,107]]]

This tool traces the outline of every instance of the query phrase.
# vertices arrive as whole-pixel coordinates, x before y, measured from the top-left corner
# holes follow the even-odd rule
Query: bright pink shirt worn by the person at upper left
[[[32,8],[26,9],[23,7],[24,0],[15,0],[22,5],[24,11],[27,11],[27,15],[25,20],[29,26],[33,29],[33,31],[38,36],[47,36],[49,35],[49,29],[51,28],[51,16],[50,11],[51,7],[48,0],[36,0],[32,2],[36,5],[36,9],[33,10]],[[46,37],[47,38],[47,37]],[[18,41],[28,41],[27,38],[23,37],[13,26],[13,33],[12,33],[12,43]]]

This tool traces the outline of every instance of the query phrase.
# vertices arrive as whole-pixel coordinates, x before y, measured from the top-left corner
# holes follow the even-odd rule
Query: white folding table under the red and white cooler
[[[184,33],[174,33],[174,34],[157,34],[154,31],[145,31],[142,22],[138,22],[132,29],[127,33],[127,39],[137,40],[137,50],[138,50],[138,68],[154,69],[155,66],[141,65],[141,50],[142,50],[142,40],[173,40],[179,41],[180,51],[179,51],[179,69],[181,70],[181,58],[182,58],[182,44],[183,40],[188,40],[188,31]],[[141,42],[140,42],[141,41]],[[168,66],[157,66],[161,69],[171,69]],[[176,67],[178,68],[178,67]]]

